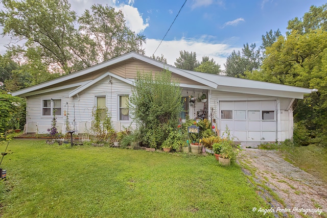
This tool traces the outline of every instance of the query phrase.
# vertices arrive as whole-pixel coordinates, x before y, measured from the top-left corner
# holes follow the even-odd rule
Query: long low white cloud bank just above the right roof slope
[[[158,39],[147,39],[145,45],[146,56],[152,56],[153,52],[157,48],[160,40]],[[208,56],[209,59],[214,59],[222,69],[224,69],[224,63],[226,63],[227,56],[229,56],[233,50],[241,50],[240,47],[232,47],[225,43],[208,43],[202,39],[185,39],[172,41],[162,41],[160,47],[154,54],[155,56],[164,55],[167,59],[167,63],[175,65],[174,62],[179,57],[180,51],[195,52],[197,59],[202,60],[203,56]]]

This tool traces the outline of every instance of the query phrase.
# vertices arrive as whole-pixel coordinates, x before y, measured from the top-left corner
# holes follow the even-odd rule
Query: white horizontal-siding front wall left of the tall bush
[[[110,80],[107,77],[69,98],[68,94],[72,90],[73,88],[29,96],[27,98],[26,132],[48,133],[47,130],[51,128],[53,116],[42,115],[42,101],[51,99],[61,100],[61,115],[57,115],[56,120],[58,130],[62,133],[66,132],[66,123],[69,124],[71,130],[76,130],[78,133],[90,132],[92,111],[95,109],[98,96],[105,97],[106,107],[111,114],[112,124],[116,131],[131,124],[131,119],[119,120],[119,96],[131,94],[130,84],[115,78]]]

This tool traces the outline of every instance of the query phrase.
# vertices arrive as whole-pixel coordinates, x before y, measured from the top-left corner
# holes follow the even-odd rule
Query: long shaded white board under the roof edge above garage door
[[[266,95],[291,99],[303,99],[303,92],[292,91],[280,91],[280,90],[267,90],[267,89],[255,89],[255,88],[243,88],[243,87],[231,87],[231,86],[218,86],[218,91],[237,92],[245,94]]]

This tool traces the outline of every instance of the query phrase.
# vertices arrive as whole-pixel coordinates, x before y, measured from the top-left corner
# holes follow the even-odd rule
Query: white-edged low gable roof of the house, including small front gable
[[[213,74],[206,74],[202,72],[196,72],[191,70],[184,70],[179,69],[175,66],[162,63],[160,61],[157,61],[155,59],[149,58],[147,56],[135,53],[135,52],[129,52],[127,54],[124,54],[122,56],[113,58],[111,60],[102,62],[100,64],[88,67],[86,69],[74,72],[69,75],[65,75],[63,77],[59,77],[57,79],[47,81],[35,86],[31,86],[25,89],[21,89],[18,91],[12,92],[12,95],[14,96],[29,96],[36,93],[44,93],[49,92],[53,90],[60,90],[64,89],[64,86],[58,86],[57,88],[48,88],[48,86],[53,85],[60,85],[60,83],[79,78],[81,76],[90,74],[91,72],[94,72],[96,70],[105,69],[108,66],[111,66],[116,63],[120,63],[123,61],[126,61],[128,59],[138,59],[141,61],[144,61],[148,64],[160,67],[162,69],[166,68],[170,71],[172,71],[174,74],[177,74],[179,76],[197,81],[200,84],[203,84],[199,86],[199,88],[203,89],[213,89],[213,90],[220,90],[220,91],[231,91],[231,92],[241,92],[241,93],[253,93],[253,94],[262,94],[262,95],[270,95],[270,96],[283,96],[287,98],[297,98],[302,99],[303,94],[311,93],[312,89],[307,88],[300,88],[300,87],[294,87],[294,86],[287,86],[287,85],[281,85],[281,84],[274,84],[274,83],[267,83],[267,82],[260,82],[260,81],[254,81],[254,80],[248,80],[248,79],[240,79],[240,78],[233,78],[233,77],[226,77],[221,75],[213,75]],[[95,84],[96,82],[100,81],[101,79],[110,76],[114,77],[116,79],[122,80],[126,83],[132,84],[133,80],[126,79],[120,76],[117,76],[115,74],[112,74],[111,72],[105,72],[102,76],[86,81],[83,83],[76,83],[75,85],[72,84],[69,87],[77,87],[73,91],[69,93],[69,97],[74,96],[78,92],[86,89],[87,87],[90,87],[91,85]],[[67,85],[66,85],[67,86]],[[197,86],[194,85],[187,85],[187,84],[180,84],[181,87],[194,87]]]

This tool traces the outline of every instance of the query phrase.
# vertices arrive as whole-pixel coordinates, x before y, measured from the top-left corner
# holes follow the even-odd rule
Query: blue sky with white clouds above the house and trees
[[[68,2],[78,15],[93,4],[107,4],[122,10],[127,25],[147,37],[144,48],[146,55],[151,56],[184,0]],[[224,68],[233,50],[241,50],[245,43],[255,43],[259,47],[262,35],[270,30],[279,29],[285,35],[289,20],[301,18],[311,5],[325,3],[320,0],[187,0],[155,55],[163,54],[168,63],[174,65],[179,51],[196,52],[198,60],[209,56]],[[8,37],[0,38],[0,53],[4,53],[3,45],[8,41]]]

